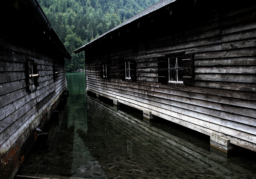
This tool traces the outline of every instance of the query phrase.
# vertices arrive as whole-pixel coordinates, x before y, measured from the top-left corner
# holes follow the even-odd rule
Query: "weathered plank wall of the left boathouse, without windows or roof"
[[[33,92],[26,88],[27,59],[39,67],[40,86]],[[58,71],[55,81],[53,65]],[[17,172],[36,139],[36,127],[50,119],[66,89],[63,55],[53,58],[39,46],[0,35],[0,178],[12,178]]]

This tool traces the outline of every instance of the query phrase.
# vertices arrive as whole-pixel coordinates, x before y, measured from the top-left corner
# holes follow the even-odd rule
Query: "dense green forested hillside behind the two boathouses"
[[[159,0],[38,0],[53,29],[72,55],[67,71],[85,68],[84,53],[73,51]]]

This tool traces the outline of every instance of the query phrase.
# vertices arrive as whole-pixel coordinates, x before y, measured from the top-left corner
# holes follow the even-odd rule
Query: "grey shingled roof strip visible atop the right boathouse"
[[[153,11],[156,11],[172,2],[175,2],[176,0],[161,0],[161,1],[158,1],[157,3],[155,3],[154,5],[148,7],[147,9],[141,11],[140,13],[136,14],[135,16],[133,16],[132,18],[130,19],[127,19],[126,21],[124,21],[123,23],[121,23],[120,25],[114,27],[113,29],[105,32],[104,34],[102,34],[101,36],[99,36],[98,38],[90,41],[89,43],[85,44],[84,46],[78,48],[77,50],[73,51],[75,54],[81,52],[81,51],[84,51],[84,47],[88,46],[89,44],[92,44],[93,42],[95,42],[96,40],[100,39],[100,38],[103,38],[104,36],[106,36],[107,34],[110,34],[112,31],[115,31],[117,29],[119,29],[120,27],[123,27],[133,21],[136,21],[137,19],[145,16],[145,15],[148,15],[150,13],[152,13]]]

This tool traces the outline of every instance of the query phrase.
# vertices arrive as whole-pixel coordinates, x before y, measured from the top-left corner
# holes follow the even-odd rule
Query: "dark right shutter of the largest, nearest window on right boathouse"
[[[194,85],[194,54],[184,54],[183,63],[183,85]]]

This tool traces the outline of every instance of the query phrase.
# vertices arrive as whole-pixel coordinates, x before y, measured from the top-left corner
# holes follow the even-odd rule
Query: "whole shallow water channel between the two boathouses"
[[[37,143],[17,174],[81,178],[256,178],[255,152],[229,158],[210,151],[210,139],[142,111],[86,96],[84,73],[67,73],[68,102],[52,119],[48,147]]]

